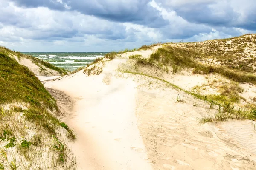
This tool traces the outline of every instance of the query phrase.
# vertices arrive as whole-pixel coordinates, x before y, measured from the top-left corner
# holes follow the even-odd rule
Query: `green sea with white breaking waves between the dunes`
[[[104,57],[106,52],[91,52],[91,53],[68,53],[68,52],[59,52],[59,53],[24,53],[37,57],[44,61],[51,63],[60,68],[64,68],[69,71],[74,71],[79,67],[84,67],[87,64],[93,62],[94,59],[98,57]]]

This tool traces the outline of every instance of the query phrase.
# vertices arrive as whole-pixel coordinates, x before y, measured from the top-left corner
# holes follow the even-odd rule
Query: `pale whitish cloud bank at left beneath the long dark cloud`
[[[126,27],[120,23],[78,12],[52,11],[45,7],[20,8],[10,3],[4,4],[0,10],[4,14],[0,16],[0,23],[4,25],[0,28],[2,37],[52,41],[85,35],[113,40],[127,36]]]

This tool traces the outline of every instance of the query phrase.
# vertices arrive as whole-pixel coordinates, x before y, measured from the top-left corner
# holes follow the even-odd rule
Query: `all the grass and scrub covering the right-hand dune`
[[[162,48],[158,48],[157,51],[152,53],[149,58],[143,58],[138,55],[129,56],[129,59],[136,61],[135,68],[138,69],[136,65],[148,65],[158,69],[159,73],[144,74],[142,68],[138,72],[129,71],[129,69],[125,72],[141,74],[156,79],[160,79],[159,77],[163,72],[168,73],[170,70],[172,70],[172,74],[184,69],[192,69],[193,74],[207,75],[217,73],[229,79],[229,82],[222,82],[221,84],[222,80],[220,80],[220,82],[212,82],[194,87],[192,91],[187,91],[164,79],[160,80],[168,83],[173,88],[209,102],[209,108],[218,105],[219,109],[215,117],[204,118],[201,122],[226,119],[256,119],[255,104],[247,104],[243,108],[234,107],[234,103],[239,103],[241,99],[246,102],[246,99],[239,96],[243,92],[239,83],[256,85],[256,75],[253,74],[253,65],[251,65],[255,57],[250,56],[244,59],[244,56],[248,56],[245,50],[256,51],[256,35],[246,36],[206,42],[165,44]],[[200,94],[200,89],[204,88],[204,86],[217,88],[218,94]],[[195,102],[194,105],[197,106]]]

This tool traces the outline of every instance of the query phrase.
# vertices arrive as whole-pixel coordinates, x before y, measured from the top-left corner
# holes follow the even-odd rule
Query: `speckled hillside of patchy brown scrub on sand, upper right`
[[[205,64],[224,65],[239,71],[254,72],[256,67],[256,34],[221,40],[180,43],[178,48],[196,50],[197,60]]]

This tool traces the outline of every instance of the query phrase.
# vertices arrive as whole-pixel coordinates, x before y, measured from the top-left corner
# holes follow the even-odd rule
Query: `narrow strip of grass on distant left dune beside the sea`
[[[26,54],[22,54],[20,52],[12,51],[12,50],[10,50],[6,47],[1,47],[0,46],[0,52],[3,53],[3,54],[6,54],[6,55],[13,54],[13,55],[17,56],[18,59],[20,59],[20,58],[30,59],[33,63],[35,63],[35,65],[38,65],[38,67],[42,68],[41,65],[43,65],[46,68],[58,71],[60,75],[66,75],[67,74],[67,71],[64,70],[63,68],[58,68],[58,67],[50,64],[49,62],[45,62],[45,61],[40,60],[36,57],[32,57],[32,56],[29,56],[29,55],[26,55]],[[44,70],[44,68],[42,68],[42,69]]]

